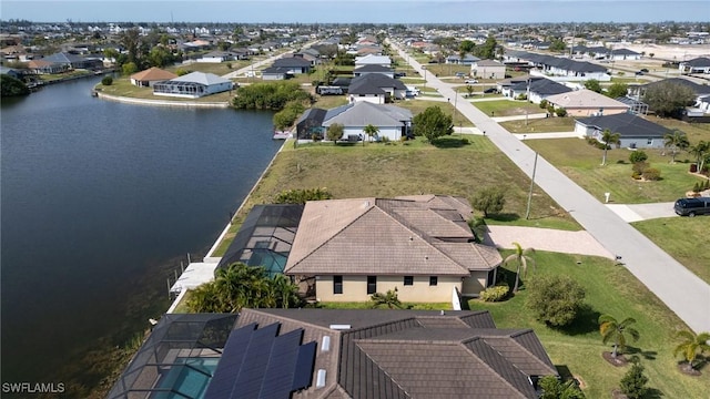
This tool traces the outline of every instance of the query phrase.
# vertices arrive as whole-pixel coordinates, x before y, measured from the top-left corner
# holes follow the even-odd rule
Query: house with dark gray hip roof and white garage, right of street
[[[595,137],[599,142],[601,142],[602,132],[607,129],[620,134],[620,146],[625,149],[662,149],[663,136],[670,132],[661,125],[630,113],[582,117],[575,124],[575,132],[579,133],[580,137]]]

